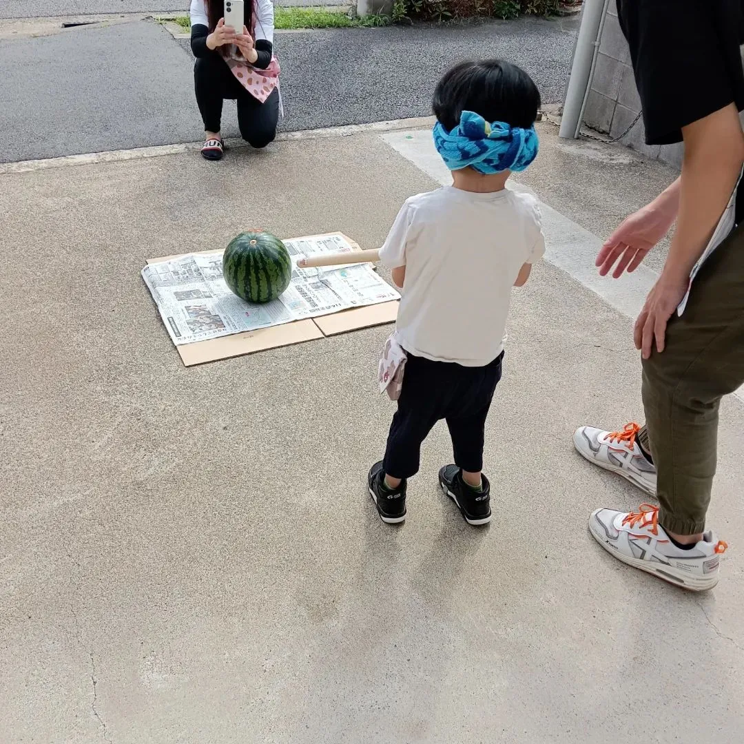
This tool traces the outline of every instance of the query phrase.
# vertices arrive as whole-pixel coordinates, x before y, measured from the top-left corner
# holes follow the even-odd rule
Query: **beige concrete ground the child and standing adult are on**
[[[672,174],[549,126],[519,184],[547,202],[548,261],[514,293],[482,530],[437,490],[444,427],[405,525],[376,516],[390,327],[186,369],[139,276],[255,224],[379,246],[437,184],[428,133],[0,168],[4,744],[742,740],[744,403],[722,410],[719,587],[613,561],[589,512],[643,498],[571,434],[641,416],[640,363],[629,305],[565,256]]]

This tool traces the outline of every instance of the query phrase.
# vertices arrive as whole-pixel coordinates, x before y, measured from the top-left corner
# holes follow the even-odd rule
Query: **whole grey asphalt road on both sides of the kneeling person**
[[[577,22],[520,19],[475,26],[282,33],[285,130],[428,115],[455,60],[499,56],[561,100]],[[155,22],[80,27],[0,42],[0,161],[194,141],[193,57]],[[234,107],[223,131],[237,135]]]

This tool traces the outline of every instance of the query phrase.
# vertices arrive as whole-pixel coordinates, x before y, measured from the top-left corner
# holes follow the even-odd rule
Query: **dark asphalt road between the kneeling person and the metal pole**
[[[535,79],[544,103],[562,100],[577,22],[520,19],[475,26],[394,26],[283,34],[286,129],[431,114],[437,80],[458,60],[504,57]]]

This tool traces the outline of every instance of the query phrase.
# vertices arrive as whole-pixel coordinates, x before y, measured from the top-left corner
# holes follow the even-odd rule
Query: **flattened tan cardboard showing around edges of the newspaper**
[[[341,235],[355,251],[361,250],[356,241],[351,240],[343,233],[327,233],[327,235]],[[320,236],[312,235],[309,237]],[[222,253],[221,250],[202,252]],[[149,258],[147,263],[158,263],[178,257],[179,254]],[[243,354],[252,354],[280,346],[323,339],[325,336],[336,336],[339,333],[348,333],[359,328],[394,323],[397,314],[398,301],[395,300],[378,305],[353,307],[349,310],[334,312],[331,315],[306,318],[301,321],[292,321],[292,323],[283,323],[269,328],[246,331],[245,333],[233,333],[231,336],[220,336],[219,339],[195,341],[193,344],[176,346],[176,350],[184,365],[193,367],[193,365],[203,365],[206,362],[217,362],[218,359],[228,359],[231,356],[243,356]]]

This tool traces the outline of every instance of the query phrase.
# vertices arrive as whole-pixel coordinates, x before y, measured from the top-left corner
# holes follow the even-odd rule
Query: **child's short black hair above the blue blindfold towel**
[[[437,83],[434,115],[449,132],[460,124],[464,111],[486,121],[504,121],[529,129],[537,118],[540,94],[522,68],[502,60],[461,62]]]

